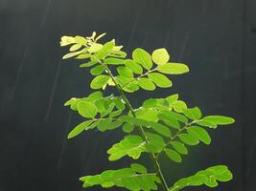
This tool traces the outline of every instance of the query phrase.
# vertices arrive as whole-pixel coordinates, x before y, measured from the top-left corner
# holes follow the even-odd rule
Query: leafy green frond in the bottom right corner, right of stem
[[[216,187],[218,186],[218,181],[228,181],[232,179],[232,173],[228,168],[225,165],[218,165],[200,170],[193,176],[177,180],[169,190],[179,191],[188,186],[199,186],[202,184],[208,187]]]

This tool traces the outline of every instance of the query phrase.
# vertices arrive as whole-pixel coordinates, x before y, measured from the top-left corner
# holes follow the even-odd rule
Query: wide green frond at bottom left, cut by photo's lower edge
[[[145,171],[145,167],[141,164],[134,164],[130,168],[106,170],[100,175],[81,177],[80,180],[83,181],[84,188],[102,185],[104,188],[118,186],[128,190],[157,190],[156,183],[160,183],[157,176],[153,173],[136,172],[138,169],[140,172]]]

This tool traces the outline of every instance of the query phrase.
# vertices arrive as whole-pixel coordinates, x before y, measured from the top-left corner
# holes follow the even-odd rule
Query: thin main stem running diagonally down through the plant
[[[100,62],[104,67],[105,67],[105,71],[107,72],[107,74],[111,77],[111,79],[113,80],[119,94],[122,96],[122,98],[124,99],[124,101],[126,102],[126,105],[128,106],[128,110],[131,112],[132,116],[135,117],[135,112],[134,112],[134,109],[132,108],[131,104],[129,103],[128,101],[128,98],[127,96],[125,95],[124,91],[122,90],[122,88],[120,87],[120,85],[117,83],[117,81],[115,80],[115,77],[114,75],[111,73],[110,69],[103,63],[103,62]],[[142,138],[147,142],[149,143],[149,140],[148,138],[146,137],[146,134],[145,134],[145,131],[143,129],[142,126],[139,126],[139,132],[140,132],[140,135],[142,136]],[[158,159],[156,157],[156,155],[154,155],[153,153],[150,153],[151,154],[151,160],[153,162],[153,166],[154,166],[154,170],[156,171],[156,174],[158,175],[159,179],[161,180],[161,184],[162,184],[162,187],[164,189],[164,191],[168,191],[169,188],[168,188],[168,185],[166,183],[166,180],[164,179],[164,176],[163,176],[163,173],[161,171],[161,168],[160,168],[160,164],[158,162]]]

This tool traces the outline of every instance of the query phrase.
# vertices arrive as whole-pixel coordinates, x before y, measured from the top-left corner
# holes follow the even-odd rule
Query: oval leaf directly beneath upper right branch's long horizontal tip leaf
[[[152,82],[160,88],[169,88],[173,85],[172,81],[164,74],[151,73],[148,74],[148,76],[152,80]]]

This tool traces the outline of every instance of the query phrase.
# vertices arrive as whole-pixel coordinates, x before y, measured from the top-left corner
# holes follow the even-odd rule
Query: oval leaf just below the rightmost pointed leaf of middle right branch
[[[190,126],[187,128],[187,132],[202,141],[204,144],[210,144],[211,138],[206,130],[198,126]]]

